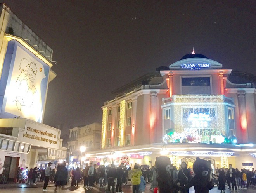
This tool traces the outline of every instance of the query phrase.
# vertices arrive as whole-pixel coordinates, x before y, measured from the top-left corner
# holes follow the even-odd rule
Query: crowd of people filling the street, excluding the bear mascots
[[[51,167],[52,163],[48,163],[47,168],[18,168],[17,182],[26,183],[28,185],[36,185],[38,182],[44,181],[43,191],[47,191],[49,181],[55,183],[55,191],[64,190],[65,185],[71,179],[71,186],[78,186],[83,183],[83,188],[92,188],[98,185],[99,188],[106,188],[110,192],[123,193],[122,186],[132,186],[133,193],[144,193],[147,183],[151,183],[150,190],[154,190],[158,186],[157,169],[146,167],[142,168],[135,163],[134,167],[127,167],[121,163],[118,167],[97,165],[92,163],[85,164],[83,169],[71,168],[67,169],[66,163],[59,163],[57,168]],[[174,183],[179,186],[185,186],[193,178],[194,174],[191,168],[187,168],[187,164],[182,162],[181,167],[177,169],[173,164],[170,166],[170,174]],[[221,193],[225,193],[227,189],[236,192],[237,189],[247,189],[249,186],[256,186],[256,171],[254,168],[241,169],[233,168],[229,164],[229,168],[216,168],[212,173],[213,183],[218,186]],[[7,179],[3,174],[0,175],[0,183],[7,183]],[[181,190],[181,193],[188,193],[189,190]]]

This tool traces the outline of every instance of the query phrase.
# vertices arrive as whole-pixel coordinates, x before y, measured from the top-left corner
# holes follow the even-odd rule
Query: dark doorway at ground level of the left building
[[[3,174],[8,181],[16,182],[17,180],[17,169],[19,166],[19,157],[5,156],[3,164]]]

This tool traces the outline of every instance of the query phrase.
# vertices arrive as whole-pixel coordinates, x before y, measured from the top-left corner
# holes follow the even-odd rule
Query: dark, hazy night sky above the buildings
[[[44,124],[102,122],[111,91],[191,53],[256,74],[254,0],[5,0],[53,50]]]

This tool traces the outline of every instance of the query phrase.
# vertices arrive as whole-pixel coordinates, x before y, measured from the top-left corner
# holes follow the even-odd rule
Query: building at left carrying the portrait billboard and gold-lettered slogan
[[[43,124],[52,49],[4,3],[0,22],[0,173],[15,181],[17,167],[57,164],[67,148],[61,130]]]

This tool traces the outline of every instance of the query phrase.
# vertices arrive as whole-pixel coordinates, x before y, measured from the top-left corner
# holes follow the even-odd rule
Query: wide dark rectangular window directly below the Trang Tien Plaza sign
[[[210,77],[183,77],[182,86],[211,86]]]

